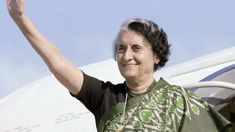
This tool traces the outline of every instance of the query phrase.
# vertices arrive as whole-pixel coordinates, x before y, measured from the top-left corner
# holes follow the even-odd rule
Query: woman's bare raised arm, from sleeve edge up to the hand
[[[24,12],[24,0],[7,0],[10,16],[55,77],[73,94],[82,86],[83,74],[41,34]]]

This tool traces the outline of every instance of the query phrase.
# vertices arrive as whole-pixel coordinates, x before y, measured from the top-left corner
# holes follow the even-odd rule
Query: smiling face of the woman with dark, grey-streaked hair
[[[159,62],[148,41],[141,34],[131,30],[120,32],[116,60],[126,80],[152,77],[154,63]]]

